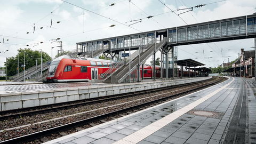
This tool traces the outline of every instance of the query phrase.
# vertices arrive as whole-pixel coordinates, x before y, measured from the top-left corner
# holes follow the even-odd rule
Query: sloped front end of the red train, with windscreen
[[[58,80],[57,80],[57,77],[59,75],[58,66],[59,66],[60,61],[65,58],[69,59],[69,56],[62,55],[61,57],[52,60],[50,67],[48,69],[48,72],[47,72],[46,83],[57,83],[58,82]]]

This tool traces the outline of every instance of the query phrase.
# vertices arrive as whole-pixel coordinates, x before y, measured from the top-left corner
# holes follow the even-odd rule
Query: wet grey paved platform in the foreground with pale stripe
[[[208,87],[48,143],[256,143],[255,79]]]

